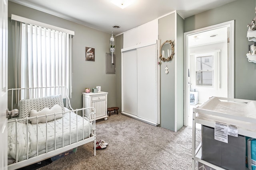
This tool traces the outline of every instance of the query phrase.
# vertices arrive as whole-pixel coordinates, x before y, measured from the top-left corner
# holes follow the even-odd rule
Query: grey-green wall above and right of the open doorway
[[[235,98],[256,100],[256,64],[246,59],[248,45],[247,24],[255,17],[255,0],[237,0],[224,6],[185,18],[184,30],[235,20]]]

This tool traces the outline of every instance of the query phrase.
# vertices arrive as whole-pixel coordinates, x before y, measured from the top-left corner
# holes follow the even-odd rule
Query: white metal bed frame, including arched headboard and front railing
[[[30,120],[31,119],[36,119],[36,155],[31,157],[29,155],[29,151],[28,151],[28,130],[27,130],[27,134],[25,135],[27,139],[24,139],[26,140],[26,159],[25,160],[18,160],[18,154],[19,154],[19,150],[17,149],[17,146],[18,146],[18,133],[15,134],[15,144],[14,144],[14,149],[15,149],[15,156],[16,159],[15,159],[15,162],[12,163],[12,164],[9,164],[8,165],[8,170],[14,170],[14,169],[18,169],[18,168],[21,168],[21,167],[24,167],[24,166],[28,166],[30,164],[33,164],[33,163],[36,163],[36,162],[39,162],[41,160],[45,160],[47,158],[51,158],[52,156],[56,156],[58,154],[61,154],[63,152],[66,152],[70,149],[73,149],[73,148],[76,148],[76,147],[79,147],[81,145],[84,145],[86,143],[89,143],[89,142],[92,142],[94,141],[94,155],[96,155],[96,122],[95,122],[95,113],[92,112],[90,113],[88,116],[86,116],[85,114],[85,111],[87,109],[91,109],[91,110],[94,110],[95,109],[93,107],[87,107],[87,108],[81,108],[81,109],[72,109],[71,105],[70,105],[70,100],[68,98],[68,89],[64,86],[59,86],[59,87],[41,87],[41,88],[13,88],[13,89],[9,89],[8,90],[8,108],[9,110],[12,110],[12,109],[19,109],[19,101],[20,100],[23,100],[23,99],[32,99],[32,98],[41,98],[41,97],[46,97],[46,96],[53,96],[53,95],[59,95],[59,94],[62,94],[62,98],[66,101],[66,105],[64,103],[64,106],[66,108],[68,108],[69,110],[68,111],[62,111],[62,112],[59,112],[59,113],[52,113],[52,114],[47,114],[47,115],[39,115],[39,116],[35,116],[35,117],[27,117],[27,118],[23,118],[23,119],[18,119],[18,118],[14,118],[14,119],[9,119],[8,120],[8,126],[10,125],[10,123],[14,123],[15,124],[15,131],[17,132],[18,131],[18,124],[19,124],[19,121],[26,121],[26,123],[22,123],[24,126],[26,126],[26,129],[28,129],[28,126],[30,125]],[[92,109],[93,108],[93,109]],[[65,143],[63,140],[64,140],[64,133],[66,131],[63,130],[63,126],[64,126],[64,122],[63,122],[63,119],[62,119],[62,132],[58,135],[60,135],[62,137],[62,145],[58,145],[58,147],[56,146],[56,141],[57,141],[57,137],[55,135],[56,134],[56,115],[59,115],[59,114],[62,114],[62,117],[65,115],[65,114],[69,114],[71,112],[74,112],[76,115],[76,128],[73,129],[72,131],[69,130],[69,143],[67,144],[67,142]],[[96,112],[96,111],[95,111]],[[79,114],[78,114],[79,113]],[[49,117],[49,116],[52,116],[54,115],[54,120],[52,121],[47,121],[47,118],[46,117]],[[77,121],[78,121],[78,116],[82,116],[82,118],[80,117],[80,120],[82,119],[82,139],[81,138],[81,135],[78,135],[78,124],[77,124]],[[19,116],[17,116],[19,117]],[[38,123],[38,119],[39,118],[42,118],[42,117],[45,117],[46,119],[46,141],[48,141],[47,139],[49,138],[48,137],[48,125],[50,124],[50,122],[54,122],[54,149],[51,148],[51,150],[48,150],[48,143],[46,142],[45,143],[45,152],[42,153],[38,150],[38,145],[39,145],[39,140],[38,140],[38,127],[41,123]],[[8,118],[12,118],[12,117],[8,117]],[[90,132],[90,128],[88,128],[88,131],[87,129],[85,129],[84,127],[84,124],[86,122],[89,122],[89,124],[92,126],[92,131]],[[69,123],[71,124],[71,123]],[[89,126],[90,126],[89,125]],[[71,126],[71,125],[70,125]],[[69,129],[71,129],[71,127],[69,127]],[[68,130],[67,130],[68,131]],[[84,134],[85,132],[84,131],[87,131],[88,134],[90,134],[88,137],[85,137]],[[67,133],[67,132],[66,132]],[[75,137],[72,137],[71,139],[71,135],[74,135],[74,133],[76,133]],[[79,138],[79,139],[78,139]],[[9,145],[9,144],[8,144]]]

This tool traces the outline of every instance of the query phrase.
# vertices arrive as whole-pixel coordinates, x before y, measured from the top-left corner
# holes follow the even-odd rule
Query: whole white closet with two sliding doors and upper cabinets
[[[150,28],[150,29],[149,29]],[[122,114],[152,125],[157,111],[158,20],[124,33],[122,52]]]

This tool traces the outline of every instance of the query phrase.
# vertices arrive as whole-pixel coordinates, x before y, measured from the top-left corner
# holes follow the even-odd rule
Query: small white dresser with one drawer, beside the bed
[[[108,92],[98,92],[98,93],[83,93],[83,107],[94,107],[96,110],[90,109],[85,112],[86,115],[89,115],[90,112],[96,114],[96,120],[108,119]]]

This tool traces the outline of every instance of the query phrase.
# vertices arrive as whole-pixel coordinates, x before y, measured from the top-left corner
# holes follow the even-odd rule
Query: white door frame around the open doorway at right
[[[188,126],[188,36],[195,33],[209,31],[211,29],[216,29],[218,27],[230,27],[230,49],[228,56],[228,98],[234,98],[234,20],[227,21],[224,23],[219,23],[216,25],[196,29],[193,31],[188,31],[184,33],[184,126]]]

